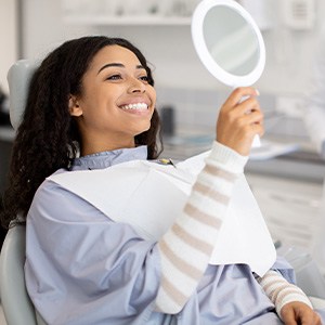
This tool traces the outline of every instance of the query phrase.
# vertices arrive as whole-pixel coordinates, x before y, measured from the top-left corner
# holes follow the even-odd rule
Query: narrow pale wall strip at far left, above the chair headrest
[[[17,58],[16,1],[0,1],[0,87],[8,92],[6,73]]]

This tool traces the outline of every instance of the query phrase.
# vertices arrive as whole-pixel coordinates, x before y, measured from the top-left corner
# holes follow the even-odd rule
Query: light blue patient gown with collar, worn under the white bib
[[[76,159],[73,170],[107,168],[146,154],[144,146],[100,153]],[[245,264],[208,265],[179,314],[156,312],[156,243],[49,180],[28,212],[26,247],[28,294],[48,324],[283,324]],[[278,259],[274,269],[292,281],[285,261]]]

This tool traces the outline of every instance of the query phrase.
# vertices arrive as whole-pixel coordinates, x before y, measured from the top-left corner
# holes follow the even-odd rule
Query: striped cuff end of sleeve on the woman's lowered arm
[[[297,286],[288,283],[278,272],[270,270],[263,277],[257,276],[265,295],[274,303],[276,313],[281,317],[282,308],[289,302],[300,301],[313,308],[304,292]]]

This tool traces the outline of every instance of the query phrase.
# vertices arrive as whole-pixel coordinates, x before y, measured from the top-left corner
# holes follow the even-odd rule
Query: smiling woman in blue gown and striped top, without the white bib
[[[157,240],[115,222],[57,181],[133,161],[155,165],[153,86],[141,52],[106,37],[62,44],[34,76],[2,222],[27,216],[26,284],[39,313],[49,324],[282,324],[280,317],[321,324],[276,265],[259,276],[247,264],[209,264],[234,183],[253,136],[263,133],[255,89],[235,90],[221,107],[206,165],[184,209]],[[249,99],[238,104],[244,95]],[[90,192],[100,195],[95,187]],[[139,199],[147,205],[151,197]]]

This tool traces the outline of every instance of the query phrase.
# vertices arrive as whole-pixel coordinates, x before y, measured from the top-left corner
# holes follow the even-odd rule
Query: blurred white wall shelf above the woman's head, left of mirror
[[[79,25],[190,25],[200,0],[62,0],[63,18]]]

